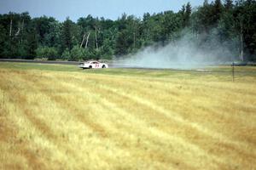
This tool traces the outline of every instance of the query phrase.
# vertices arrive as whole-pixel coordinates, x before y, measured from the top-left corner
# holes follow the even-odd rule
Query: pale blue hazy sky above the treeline
[[[203,0],[0,0],[0,14],[28,11],[32,17],[53,16],[63,21],[67,16],[76,21],[91,14],[96,17],[116,20],[121,14],[159,13],[165,10],[177,12],[184,3],[192,7],[201,5]]]

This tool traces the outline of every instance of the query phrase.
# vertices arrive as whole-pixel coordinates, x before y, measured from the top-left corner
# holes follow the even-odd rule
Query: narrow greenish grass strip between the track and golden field
[[[38,64],[38,63],[15,63],[15,62],[0,62],[0,68],[9,69],[12,71],[68,71],[68,72],[81,72],[84,74],[103,74],[113,76],[125,77],[179,77],[180,79],[195,79],[208,77],[215,81],[231,81],[232,80],[232,67],[231,66],[216,66],[207,67],[207,71],[195,70],[151,70],[151,69],[122,69],[122,68],[109,68],[109,69],[92,69],[83,70],[78,65],[54,65],[54,64]],[[256,67],[253,66],[237,66],[235,67],[236,81],[242,81],[243,77],[256,78]]]

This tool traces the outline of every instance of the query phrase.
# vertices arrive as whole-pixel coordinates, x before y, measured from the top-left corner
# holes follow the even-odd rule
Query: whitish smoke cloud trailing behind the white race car
[[[186,31],[165,46],[154,44],[121,60],[123,64],[134,67],[195,69],[228,64],[235,59],[238,54],[236,39],[221,41],[216,30],[212,30],[210,35]]]

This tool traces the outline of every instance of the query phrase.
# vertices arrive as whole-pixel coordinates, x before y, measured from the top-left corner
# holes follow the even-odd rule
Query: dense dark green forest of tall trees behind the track
[[[113,59],[134,54],[157,43],[165,46],[183,36],[184,30],[204,42],[212,37],[236,59],[256,60],[256,2],[254,0],[207,0],[199,7],[184,4],[174,13],[122,14],[118,20],[68,17],[32,18],[29,13],[0,14],[0,58],[14,59]],[[236,47],[229,46],[230,43]],[[219,45],[219,44],[218,44]],[[232,49],[234,48],[234,49]]]

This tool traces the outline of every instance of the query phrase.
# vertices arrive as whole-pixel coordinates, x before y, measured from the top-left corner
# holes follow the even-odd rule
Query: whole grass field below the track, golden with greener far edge
[[[0,63],[0,169],[256,169],[256,67]]]

